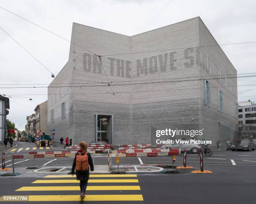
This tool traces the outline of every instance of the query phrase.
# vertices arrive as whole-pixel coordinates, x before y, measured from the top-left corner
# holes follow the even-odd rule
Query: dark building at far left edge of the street
[[[9,98],[0,95],[0,143],[3,143],[7,135],[6,116],[10,109]]]

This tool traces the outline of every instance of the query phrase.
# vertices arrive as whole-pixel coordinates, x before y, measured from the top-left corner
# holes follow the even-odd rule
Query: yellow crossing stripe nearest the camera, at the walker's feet
[[[22,195],[28,197],[30,202],[36,201],[81,201],[80,195]],[[4,200],[4,197],[0,197],[0,201]],[[86,195],[83,201],[143,201],[141,194],[120,194],[120,195]]]

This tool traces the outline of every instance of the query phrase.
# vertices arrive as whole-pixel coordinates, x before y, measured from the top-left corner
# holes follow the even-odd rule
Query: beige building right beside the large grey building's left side
[[[36,132],[47,133],[47,101],[38,104],[35,108]]]

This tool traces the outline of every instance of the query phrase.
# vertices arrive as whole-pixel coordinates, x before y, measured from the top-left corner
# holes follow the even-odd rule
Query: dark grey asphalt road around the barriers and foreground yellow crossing
[[[26,147],[25,147],[26,146]],[[28,154],[26,148],[34,147],[34,144],[20,142],[17,150],[8,152],[9,154]],[[23,148],[19,152],[18,149]],[[50,149],[52,151],[53,149]],[[49,151],[37,150],[37,151]],[[58,151],[58,150],[54,150]],[[18,177],[0,177],[1,188],[0,196],[3,195],[44,195],[44,199],[48,199],[48,203],[79,203],[79,201],[51,201],[49,195],[55,195],[54,197],[60,197],[59,195],[70,196],[78,195],[79,190],[58,190],[61,187],[67,186],[67,188],[75,188],[78,183],[73,183],[70,178],[44,178],[48,174],[36,174],[31,170],[26,170],[26,167],[31,166],[33,159],[15,159],[17,169],[23,169],[27,171],[26,174],[21,173]],[[37,164],[43,167],[57,167],[57,166],[71,166],[73,158],[57,158],[52,161],[49,159],[37,159]],[[48,163],[51,161],[50,163]],[[113,158],[113,165],[115,165],[115,158]],[[108,159],[106,157],[95,156],[95,164],[107,164]],[[182,155],[177,156],[177,166],[182,165]],[[170,157],[120,157],[120,165],[141,165],[141,164],[170,164]],[[6,165],[11,164],[11,162]],[[137,174],[136,178],[129,177],[114,177],[114,178],[92,178],[92,179],[121,179],[121,182],[109,182],[108,180],[102,180],[99,183],[89,183],[88,186],[139,186],[140,190],[88,190],[87,195],[106,195],[103,196],[106,199],[110,197],[128,197],[128,200],[135,199],[133,201],[87,201],[86,203],[147,203],[147,204],[169,204],[169,203],[182,203],[182,204],[254,204],[256,203],[255,194],[255,166],[256,166],[256,151],[239,151],[232,152],[230,150],[216,150],[213,151],[211,157],[204,155],[204,167],[205,170],[210,170],[212,174],[192,174],[191,171],[200,169],[200,158],[197,154],[187,154],[187,165],[194,167],[194,169],[180,170],[177,174]],[[0,172],[1,173],[1,172]],[[56,175],[56,174],[54,174]],[[67,183],[61,183],[62,180],[68,179]],[[74,178],[72,178],[74,179]],[[138,182],[127,182],[124,179],[138,179]],[[32,183],[37,180],[47,180],[46,183]],[[51,183],[49,180],[55,180],[55,183]],[[61,182],[59,181],[61,180]],[[74,179],[75,180],[75,179]],[[54,190],[48,190],[52,186]],[[35,187],[33,191],[16,191],[22,187]],[[38,191],[39,187],[46,187],[42,191]],[[117,187],[119,188],[119,187]],[[129,196],[127,196],[129,195]],[[101,197],[101,196],[97,196]],[[141,198],[143,201],[136,201]],[[38,202],[29,203],[44,203],[41,198],[38,198]],[[76,197],[77,199],[77,197]],[[3,202],[5,203],[5,202]],[[7,203],[7,202],[6,202]],[[21,202],[13,202],[21,203]],[[22,202],[26,203],[26,202]],[[81,203],[81,202],[80,202]]]

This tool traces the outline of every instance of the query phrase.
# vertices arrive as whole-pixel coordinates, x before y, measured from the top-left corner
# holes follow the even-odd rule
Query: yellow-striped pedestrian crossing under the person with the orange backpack
[[[44,177],[44,179],[32,182],[32,186],[21,187],[19,189],[16,189],[15,192],[22,193],[22,196],[27,197],[28,199],[26,201],[29,202],[81,201],[80,187],[78,184],[79,180],[76,180],[76,177],[74,177],[73,179],[70,178],[72,178],[72,175],[47,175]],[[139,194],[139,192],[141,191],[141,187],[138,185],[138,179],[131,178],[137,178],[137,175],[90,174],[90,179],[88,180],[89,184],[86,189],[86,197],[83,201],[130,201],[131,203],[133,203],[134,201],[143,201],[143,195]],[[59,185],[52,186],[51,184],[54,183]],[[77,185],[65,185],[73,183],[77,183]],[[91,183],[97,183],[97,185],[91,185]],[[118,185],[109,185],[108,183],[118,183]],[[122,185],[121,183],[124,183],[124,185]],[[133,183],[136,183],[137,185],[133,185]],[[38,186],[39,184],[44,185]],[[124,191],[132,193],[129,194],[128,192],[125,193]],[[30,195],[24,195],[25,192],[30,192]],[[41,192],[44,192],[43,195],[41,195]],[[47,194],[47,192],[49,192],[49,194]],[[70,193],[68,194],[67,192]],[[97,194],[97,192],[100,193]],[[6,195],[3,197],[6,197]],[[0,197],[0,201],[3,200],[3,197]]]

